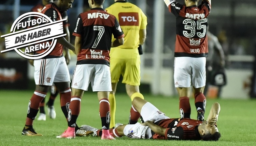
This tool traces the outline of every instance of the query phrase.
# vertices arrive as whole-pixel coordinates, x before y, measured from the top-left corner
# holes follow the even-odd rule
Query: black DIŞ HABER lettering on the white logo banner
[[[31,40],[34,38],[39,38],[42,36],[50,35],[50,32],[51,32],[51,29],[48,28],[48,29],[44,29],[42,31],[30,33],[30,34],[28,34],[28,37],[26,37],[27,35],[22,35],[20,37],[15,38],[15,43],[18,43],[18,42],[24,43],[24,41],[26,41],[26,40],[28,41],[28,40]]]

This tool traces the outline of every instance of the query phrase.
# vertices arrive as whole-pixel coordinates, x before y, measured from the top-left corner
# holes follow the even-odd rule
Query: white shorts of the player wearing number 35
[[[174,60],[174,84],[175,88],[195,88],[205,86],[205,57],[175,57]]]

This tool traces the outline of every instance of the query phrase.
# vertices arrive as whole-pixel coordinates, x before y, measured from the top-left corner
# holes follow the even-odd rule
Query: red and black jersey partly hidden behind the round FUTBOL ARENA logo
[[[62,13],[60,12],[58,6],[54,3],[45,5],[45,7],[43,8],[41,13],[45,14],[53,21],[58,21],[58,20],[62,19],[62,17],[61,17]],[[42,50],[37,51],[36,53],[41,54],[44,51],[45,50],[42,49]],[[53,51],[44,58],[61,57],[62,53],[63,53],[63,45],[57,42]]]

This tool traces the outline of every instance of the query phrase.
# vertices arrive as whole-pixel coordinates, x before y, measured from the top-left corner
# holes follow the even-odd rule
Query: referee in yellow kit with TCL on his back
[[[123,76],[122,83],[126,84],[126,92],[131,98],[140,97],[144,99],[139,91],[140,85],[140,54],[141,45],[146,39],[147,17],[142,10],[126,0],[115,0],[115,3],[106,8],[106,11],[114,15],[125,34],[125,42],[119,47],[110,50],[110,72],[112,92],[109,95],[110,102],[110,127],[115,126],[115,92],[120,75]],[[112,39],[112,42],[114,38]],[[140,53],[139,53],[140,52]],[[140,113],[133,107],[130,111],[129,124],[137,123]]]

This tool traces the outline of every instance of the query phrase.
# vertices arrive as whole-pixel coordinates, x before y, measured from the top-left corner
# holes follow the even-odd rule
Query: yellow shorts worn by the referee
[[[140,55],[138,49],[111,48],[110,73],[112,83],[117,83],[122,74],[122,83],[139,86],[141,77]]]

